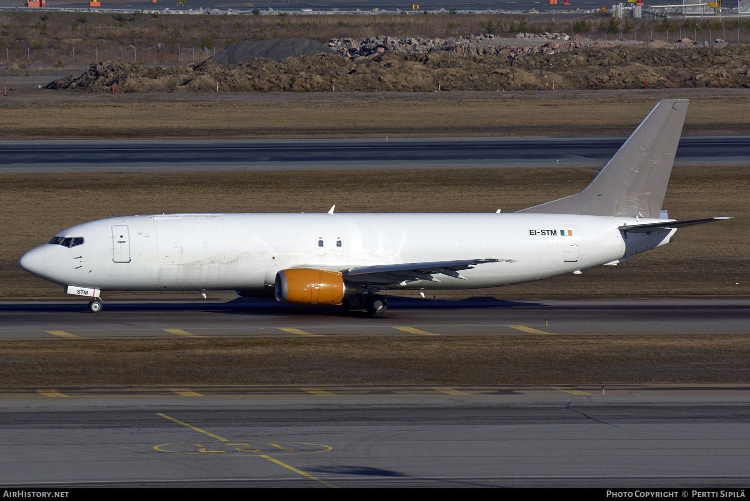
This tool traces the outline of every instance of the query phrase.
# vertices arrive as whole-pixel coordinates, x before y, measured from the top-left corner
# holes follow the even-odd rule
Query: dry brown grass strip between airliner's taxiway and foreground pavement
[[[2,341],[5,386],[750,382],[748,335]]]

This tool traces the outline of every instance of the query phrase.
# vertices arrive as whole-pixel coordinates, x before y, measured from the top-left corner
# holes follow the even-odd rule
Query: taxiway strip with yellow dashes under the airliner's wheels
[[[209,300],[105,299],[91,313],[85,300],[0,303],[1,339],[164,338],[306,335],[585,335],[750,333],[750,300],[433,301],[389,297],[371,316],[338,306],[289,306],[210,294]],[[161,298],[161,297],[159,297]]]

